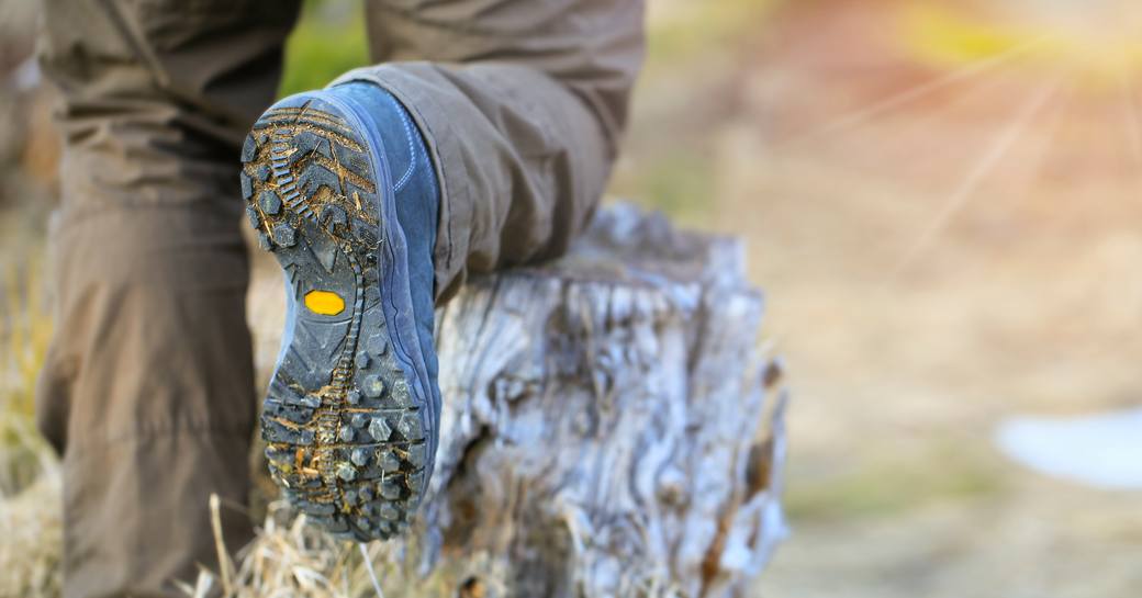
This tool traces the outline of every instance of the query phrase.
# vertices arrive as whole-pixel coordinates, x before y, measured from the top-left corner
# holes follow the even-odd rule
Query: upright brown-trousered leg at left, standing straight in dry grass
[[[273,99],[297,5],[45,2],[39,51],[65,150],[38,410],[63,456],[66,597],[174,596],[171,579],[214,560],[211,493],[230,546],[250,536],[234,164]]]

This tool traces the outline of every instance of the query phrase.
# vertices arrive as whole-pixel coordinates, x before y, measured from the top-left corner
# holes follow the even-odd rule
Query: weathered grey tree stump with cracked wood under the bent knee
[[[739,242],[630,205],[472,281],[437,312],[436,471],[391,550],[459,596],[742,596],[786,530],[762,308]]]

